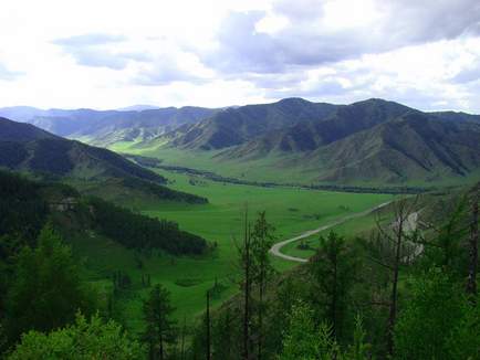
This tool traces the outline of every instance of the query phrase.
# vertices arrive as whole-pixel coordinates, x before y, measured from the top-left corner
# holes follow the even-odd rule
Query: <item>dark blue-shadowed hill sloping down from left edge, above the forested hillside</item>
[[[80,178],[140,178],[166,182],[164,177],[107,149],[66,140],[33,125],[4,118],[0,118],[0,167]]]

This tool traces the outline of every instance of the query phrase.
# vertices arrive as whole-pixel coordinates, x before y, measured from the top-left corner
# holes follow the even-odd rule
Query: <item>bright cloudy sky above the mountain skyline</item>
[[[9,0],[0,107],[371,97],[480,114],[478,0]]]

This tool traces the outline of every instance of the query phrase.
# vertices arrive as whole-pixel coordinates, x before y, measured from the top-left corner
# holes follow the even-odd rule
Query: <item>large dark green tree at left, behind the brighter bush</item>
[[[6,301],[10,343],[29,330],[65,326],[79,309],[87,315],[95,310],[96,294],[84,280],[83,264],[74,262],[51,225],[40,233],[35,250],[24,246],[18,254],[14,274]]]

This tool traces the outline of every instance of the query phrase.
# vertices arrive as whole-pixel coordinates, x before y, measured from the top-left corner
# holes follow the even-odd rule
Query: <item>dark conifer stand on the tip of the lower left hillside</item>
[[[173,221],[134,213],[100,198],[91,197],[94,226],[127,248],[163,248],[173,255],[202,255],[207,242],[178,227]]]

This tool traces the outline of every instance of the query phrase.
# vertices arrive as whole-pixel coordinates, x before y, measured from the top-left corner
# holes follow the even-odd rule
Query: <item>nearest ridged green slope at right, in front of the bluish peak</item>
[[[407,113],[275,167],[337,183],[463,177],[480,167],[480,133]]]

